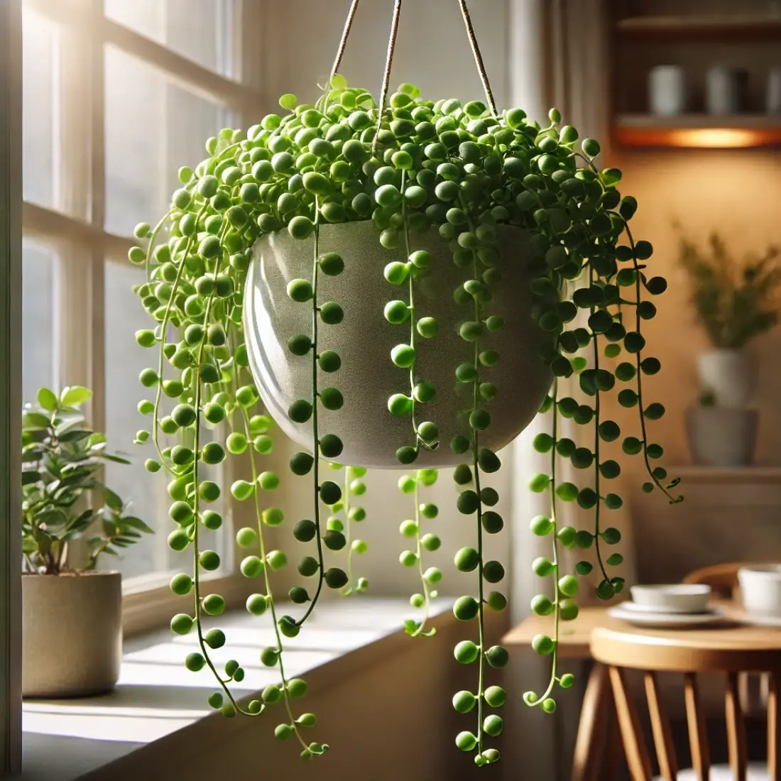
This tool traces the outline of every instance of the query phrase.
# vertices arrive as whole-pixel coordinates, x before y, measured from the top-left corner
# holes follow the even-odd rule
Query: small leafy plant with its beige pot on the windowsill
[[[80,412],[91,396],[48,388],[26,405],[22,422],[23,671],[25,697],[77,697],[112,689],[122,651],[119,572],[96,569],[103,554],[152,530],[126,514],[101,481],[106,439]],[[97,501],[96,501],[97,500]],[[95,504],[102,501],[101,508]],[[79,568],[69,547],[80,544]]]

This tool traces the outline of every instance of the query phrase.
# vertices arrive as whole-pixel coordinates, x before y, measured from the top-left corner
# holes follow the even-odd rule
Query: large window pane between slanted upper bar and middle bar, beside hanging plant
[[[180,166],[201,162],[206,139],[235,117],[115,48],[105,69],[105,226],[130,235],[166,212]]]

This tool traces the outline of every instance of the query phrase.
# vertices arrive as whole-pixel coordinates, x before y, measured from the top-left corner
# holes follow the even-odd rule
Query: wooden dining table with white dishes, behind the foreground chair
[[[611,618],[608,615],[608,606],[583,607],[574,621],[561,622],[559,625],[558,658],[590,659],[591,633],[594,629],[604,627],[631,635],[633,639],[647,638],[649,646],[691,644],[717,651],[741,648],[779,652],[781,666],[781,627],[740,623],[744,612],[736,602],[713,601],[712,604],[722,608],[726,616],[725,622],[699,629],[640,628]],[[533,615],[511,629],[502,639],[502,644],[508,647],[511,653],[514,649],[515,652],[520,652],[520,649],[530,650],[535,635],[552,634],[552,631],[553,620],[550,616]],[[614,714],[607,670],[603,665],[594,665],[583,697],[583,710],[572,763],[572,781],[611,781],[615,778],[622,747],[618,729],[615,728]],[[601,751],[602,747],[604,752]],[[600,759],[603,760],[601,765]]]

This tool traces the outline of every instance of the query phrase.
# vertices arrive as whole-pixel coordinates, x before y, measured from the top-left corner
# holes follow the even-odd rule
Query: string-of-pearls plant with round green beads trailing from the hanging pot
[[[237,712],[261,715],[274,704],[282,704],[275,734],[283,740],[293,737],[303,758],[323,754],[327,744],[306,737],[306,729],[316,723],[315,715],[295,711],[295,701],[305,694],[306,684],[285,674],[285,638],[301,631],[323,585],[347,593],[368,586],[365,579],[354,580],[351,572],[352,553],[365,545],[360,540],[347,545],[352,524],[366,515],[356,504],[366,490],[362,480],[366,470],[348,466],[342,485],[323,479],[321,472],[321,459],[331,462],[333,469],[341,468],[337,462],[345,444],[341,437],[323,430],[319,415],[349,412],[344,405],[348,389],[338,387],[339,372],[344,370],[342,356],[328,347],[327,337],[329,329],[346,327],[342,324],[345,312],[338,301],[322,298],[319,285],[330,278],[348,277],[351,268],[362,263],[360,256],[321,251],[326,232],[344,223],[373,224],[380,246],[391,257],[401,253],[401,260],[376,269],[387,280],[387,298],[376,306],[387,323],[398,326],[400,334],[387,358],[399,369],[398,391],[376,408],[378,418],[385,415],[408,421],[408,443],[395,452],[398,465],[411,466],[421,454],[436,455],[440,448],[450,448],[462,458],[454,471],[456,505],[459,513],[472,519],[475,543],[457,552],[455,565],[462,572],[474,573],[475,593],[455,601],[455,617],[472,628],[469,637],[456,645],[455,658],[464,665],[475,665],[476,687],[455,694],[453,705],[463,714],[474,711],[475,728],[458,733],[456,744],[462,751],[473,752],[477,765],[499,758],[487,742],[501,733],[503,722],[488,711],[500,708],[506,698],[500,686],[489,685],[489,678],[490,669],[506,665],[508,652],[501,646],[486,647],[483,631],[483,612],[502,610],[507,603],[501,592],[489,590],[505,571],[500,562],[485,560],[483,535],[498,533],[504,526],[501,515],[492,509],[499,498],[497,491],[485,484],[486,476],[500,469],[501,462],[484,443],[490,437],[492,415],[501,416],[501,408],[492,405],[494,398],[512,394],[512,388],[502,389],[491,381],[492,369],[502,360],[492,341],[504,328],[504,319],[492,304],[501,296],[509,264],[528,264],[533,302],[524,314],[530,327],[541,334],[543,346],[537,358],[553,378],[542,404],[542,411],[551,413],[551,433],[534,442],[537,451],[550,453],[551,469],[530,483],[531,490],[547,492],[551,499],[551,512],[533,519],[532,529],[551,539],[551,558],[537,559],[534,570],[553,580],[555,597],[540,594],[533,600],[533,609],[551,615],[554,629],[552,637],[537,637],[533,645],[539,654],[551,656],[552,672],[544,693],[524,695],[528,704],[554,711],[555,687],[569,688],[574,680],[558,672],[556,657],[559,622],[577,615],[578,580],[561,571],[558,546],[595,551],[600,597],[610,598],[622,589],[622,580],[610,574],[620,555],[604,550],[619,542],[619,532],[608,525],[607,516],[622,505],[621,497],[609,490],[609,481],[619,476],[621,467],[601,455],[602,444],[622,440],[623,452],[640,455],[647,466],[644,490],[661,490],[670,501],[679,501],[669,494],[677,481],[669,481],[665,469],[654,465],[662,448],[647,435],[647,421],[658,419],[665,410],[643,396],[643,376],[660,368],[656,358],[644,354],[642,324],[656,314],[655,305],[645,296],[663,293],[666,282],[647,273],[651,244],[635,241],[629,230],[637,202],[619,193],[618,169],[597,169],[597,141],[580,141],[574,127],[562,126],[557,110],[551,110],[549,123],[540,126],[522,109],[496,109],[464,2],[462,10],[486,87],[486,102],[430,102],[411,84],[402,84],[388,98],[389,56],[378,105],[369,91],[348,87],[336,73],[337,58],[315,105],[298,104],[293,95],[284,95],[280,98],[284,112],[265,116],[246,134],[225,129],[219,137],[210,138],[207,158],[195,169],[180,169],[181,187],[174,192],[166,215],[155,226],[136,227],[143,246],[129,253],[131,262],[146,269],[147,280],[136,292],[155,323],[138,331],[136,338],[141,346],[157,351],[155,365],[144,369],[140,377],[152,398],[141,401],[139,411],[150,415],[151,422],[137,438],[151,437],[158,451],[157,458],[147,462],[147,469],[165,469],[169,474],[170,515],[175,523],[169,544],[177,551],[189,549],[194,562],[191,574],[180,573],[171,582],[176,594],[191,599],[191,607],[173,618],[171,628],[178,634],[197,634],[198,651],[187,656],[185,665],[193,671],[208,667],[216,677],[219,690],[209,697],[212,707],[221,708],[227,716]],[[528,259],[514,257],[503,248],[501,237],[508,230],[512,236],[528,238]],[[437,276],[444,274],[437,266],[436,253],[415,246],[427,235],[439,237],[448,264],[459,269],[458,287],[452,291],[459,314],[453,322],[440,323],[417,305],[423,286],[430,281],[436,284]],[[276,238],[287,241],[288,236],[307,248],[311,265],[308,276],[287,280],[288,301],[276,305],[308,312],[306,332],[285,333],[283,344],[291,362],[305,362],[301,365],[311,371],[312,383],[305,398],[280,410],[276,398],[264,398],[266,408],[260,406],[256,384],[260,369],[253,366],[254,373],[250,371],[248,352],[252,315],[245,305],[248,273],[257,262],[256,248],[268,248]],[[585,322],[576,325],[576,319]],[[463,342],[463,358],[452,367],[447,385],[433,387],[426,380],[429,369],[418,359],[422,354],[419,345],[454,331]],[[605,358],[622,360],[614,371],[608,369],[611,364]],[[559,392],[562,381],[572,376],[588,403]],[[436,394],[454,393],[454,385],[458,398],[465,399],[459,415],[465,433],[440,444],[440,426],[426,419],[426,405]],[[620,405],[637,409],[637,432],[624,436],[617,423],[604,418],[601,404],[608,394],[616,394]],[[176,403],[169,415],[162,412],[164,397]],[[290,462],[294,476],[312,480],[314,512],[313,520],[299,520],[294,527],[296,539],[311,546],[311,555],[301,558],[298,572],[316,583],[312,590],[291,589],[291,601],[306,604],[298,619],[280,615],[272,573],[286,565],[287,556],[269,551],[264,536],[266,526],[284,522],[280,508],[266,499],[279,487],[280,476],[263,470],[260,460],[271,448],[269,415],[280,424],[311,426],[307,450]],[[562,417],[590,426],[593,448],[578,448],[562,437]],[[226,426],[230,433],[223,438],[223,430],[215,428],[212,435],[204,434],[208,424]],[[162,435],[177,433],[184,436],[179,444],[169,446],[162,440]],[[372,433],[366,431],[365,436]],[[383,443],[377,442],[376,447],[383,448]],[[262,650],[261,659],[269,667],[276,666],[280,678],[278,685],[268,686],[259,699],[246,704],[238,702],[230,688],[231,681],[243,679],[244,670],[231,660],[219,671],[210,655],[212,649],[223,647],[226,635],[217,628],[206,631],[202,619],[223,612],[225,601],[219,594],[205,593],[200,572],[215,569],[219,555],[203,550],[199,541],[201,529],[215,529],[223,522],[208,508],[221,488],[204,479],[203,468],[243,453],[249,456],[248,473],[230,486],[230,493],[235,500],[254,505],[257,525],[239,530],[237,542],[248,549],[241,572],[261,583],[259,593],[249,597],[247,609],[251,615],[270,615],[276,643]],[[558,459],[568,459],[583,470],[590,484],[579,487],[560,480]],[[399,489],[409,497],[414,512],[401,526],[401,533],[413,542],[402,552],[401,564],[417,568],[421,579],[421,591],[411,602],[423,609],[423,617],[405,625],[417,637],[434,633],[426,621],[430,599],[442,578],[439,569],[425,566],[426,551],[436,550],[441,543],[436,535],[423,533],[426,519],[436,517],[439,508],[422,501],[421,490],[435,480],[437,469],[431,468],[418,469],[399,480]],[[574,501],[593,511],[589,529],[576,530],[557,521],[558,503]],[[330,513],[326,529],[321,505]],[[335,551],[349,547],[347,571],[326,569],[323,547]],[[591,569],[589,562],[577,565],[579,575]]]

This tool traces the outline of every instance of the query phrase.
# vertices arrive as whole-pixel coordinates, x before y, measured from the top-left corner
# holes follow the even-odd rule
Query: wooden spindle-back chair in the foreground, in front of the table
[[[651,781],[651,755],[640,730],[640,717],[626,686],[626,669],[644,674],[648,715],[651,720],[656,758],[664,781],[781,781],[779,756],[779,680],[781,652],[769,648],[745,648],[735,644],[718,644],[708,639],[708,633],[687,631],[679,640],[652,637],[630,631],[594,629],[591,654],[605,665],[613,690],[622,744],[632,781]],[[658,672],[683,672],[683,696],[689,731],[693,769],[679,772],[672,742],[672,727],[660,696]],[[711,765],[704,712],[697,689],[697,674],[726,674],[726,736],[729,765]],[[746,755],[744,712],[738,697],[740,672],[769,673],[768,699],[768,761],[765,765],[749,765]]]

